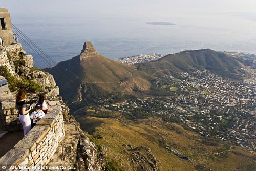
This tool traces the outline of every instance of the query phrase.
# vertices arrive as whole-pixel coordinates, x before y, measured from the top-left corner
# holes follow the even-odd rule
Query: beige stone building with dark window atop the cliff
[[[14,42],[14,35],[12,33],[12,24],[8,9],[0,8],[0,44],[3,46],[11,45]]]

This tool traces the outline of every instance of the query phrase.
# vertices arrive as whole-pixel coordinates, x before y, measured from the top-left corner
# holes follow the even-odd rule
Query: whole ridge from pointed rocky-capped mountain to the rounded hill
[[[139,98],[151,96],[154,82],[163,74],[180,78],[180,72],[188,70],[208,70],[224,78],[241,80],[246,72],[240,68],[235,58],[210,49],[168,54],[157,61],[126,65],[100,55],[87,41],[80,55],[45,70],[54,75],[63,99],[73,102],[113,97],[118,93]]]

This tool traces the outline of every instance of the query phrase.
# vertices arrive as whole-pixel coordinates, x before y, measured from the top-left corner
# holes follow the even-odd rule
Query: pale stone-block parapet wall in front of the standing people
[[[6,170],[43,170],[65,136],[59,101],[50,101],[51,109],[13,149],[0,158]]]

